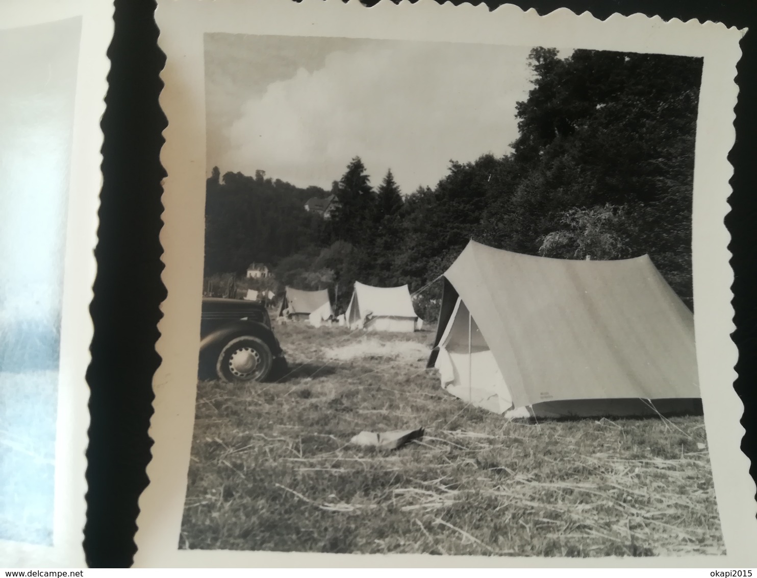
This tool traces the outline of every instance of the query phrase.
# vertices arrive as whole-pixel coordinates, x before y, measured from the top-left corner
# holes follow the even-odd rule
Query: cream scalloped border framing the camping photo
[[[540,16],[503,5],[431,0],[366,8],[357,0],[159,0],[158,44],[167,57],[160,105],[168,120],[161,162],[164,181],[161,306],[154,376],[154,440],[148,487],[139,500],[136,567],[754,567],[755,483],[740,450],[743,404],[733,389],[737,348],[731,283],[734,273],[724,226],[730,211],[727,161],[734,145],[734,82],[746,30],[722,23],[683,22],[634,14],[599,20],[560,8]],[[694,325],[699,386],[715,495],[726,554],[650,558],[529,558],[450,555],[354,555],[276,551],[182,550],[184,510],[197,395],[204,261],[206,126],[204,34],[327,36],[426,42],[549,46],[647,52],[703,58],[693,192]]]

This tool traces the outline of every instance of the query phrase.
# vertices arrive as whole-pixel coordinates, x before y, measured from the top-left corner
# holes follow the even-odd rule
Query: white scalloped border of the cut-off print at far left
[[[64,20],[77,20],[79,30],[70,161],[61,167],[65,173],[58,177],[64,180],[62,186],[67,186],[68,191],[61,217],[65,219],[64,236],[60,240],[51,240],[55,243],[51,247],[54,252],[58,246],[64,246],[61,248],[64,263],[61,267],[57,417],[51,424],[51,429],[55,430],[51,537],[44,545],[29,543],[28,538],[25,538],[26,542],[0,540],[0,565],[3,567],[86,567],[83,549],[89,440],[86,370],[93,333],[89,304],[97,270],[94,251],[98,239],[103,143],[100,121],[105,110],[107,74],[111,68],[106,52],[113,36],[113,13],[114,5],[110,0],[6,0],[0,4],[0,28],[3,30],[52,26]],[[17,375],[23,378],[23,373]],[[33,414],[35,408],[28,409]],[[21,506],[40,507],[36,503]]]

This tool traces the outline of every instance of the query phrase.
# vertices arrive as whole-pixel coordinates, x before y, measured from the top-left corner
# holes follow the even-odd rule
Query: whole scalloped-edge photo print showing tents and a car
[[[157,20],[137,565],[753,564],[740,31],[432,2]]]

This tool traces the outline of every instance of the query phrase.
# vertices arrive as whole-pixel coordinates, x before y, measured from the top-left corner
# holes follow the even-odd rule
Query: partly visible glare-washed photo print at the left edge
[[[3,566],[84,566],[84,375],[111,11],[0,6]]]

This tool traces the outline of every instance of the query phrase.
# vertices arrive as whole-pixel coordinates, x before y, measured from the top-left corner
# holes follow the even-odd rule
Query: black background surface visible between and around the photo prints
[[[376,3],[364,2],[366,5]],[[490,8],[503,3],[486,2]],[[715,20],[727,26],[752,29],[741,42],[737,139],[729,155],[735,168],[731,180],[734,194],[730,199],[733,210],[726,224],[731,231],[734,255],[731,264],[736,273],[733,289],[737,330],[733,339],[740,351],[735,387],[745,405],[742,424],[746,436],[742,448],[752,459],[752,477],[757,476],[754,362],[757,358],[754,300],[757,294],[757,173],[754,170],[757,119],[753,105],[757,102],[757,2],[510,0],[509,3],[523,9],[535,8],[539,14],[565,6],[579,14],[590,11],[600,19],[615,12],[624,15],[641,12],[659,15],[665,20]],[[159,155],[166,119],[157,101],[162,86],[158,75],[165,57],[157,48],[154,8],[151,0],[115,0],[115,33],[108,50],[110,87],[102,120],[104,185],[99,242],[95,250],[98,274],[91,306],[95,336],[88,372],[92,422],[87,451],[89,492],[84,548],[90,567],[132,564],[139,514],[137,500],[148,483],[145,467],[151,456],[147,434],[152,414],[151,380],[160,364],[154,345],[159,335],[156,325],[160,320],[160,301],[166,296],[160,283],[163,264],[158,240],[163,210],[160,180],[165,177]]]

